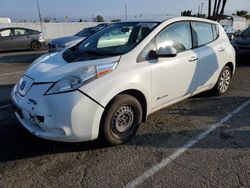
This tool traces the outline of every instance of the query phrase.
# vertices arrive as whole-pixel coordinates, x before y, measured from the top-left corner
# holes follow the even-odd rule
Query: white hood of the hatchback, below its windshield
[[[83,68],[88,65],[103,65],[112,62],[118,62],[120,60],[120,56],[114,56],[89,61],[68,63],[62,58],[62,53],[63,52],[41,56],[30,65],[25,75],[32,78],[36,83],[56,82],[79,68]]]

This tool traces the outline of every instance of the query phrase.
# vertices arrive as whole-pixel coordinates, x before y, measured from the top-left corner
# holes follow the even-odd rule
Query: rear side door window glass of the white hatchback
[[[192,22],[195,47],[203,46],[214,40],[212,24]]]

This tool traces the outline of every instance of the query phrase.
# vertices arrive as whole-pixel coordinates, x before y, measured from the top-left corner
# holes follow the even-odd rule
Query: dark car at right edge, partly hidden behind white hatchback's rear
[[[233,42],[236,54],[250,56],[250,27],[243,31]]]

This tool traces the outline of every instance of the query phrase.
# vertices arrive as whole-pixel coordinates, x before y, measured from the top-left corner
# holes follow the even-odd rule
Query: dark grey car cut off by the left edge
[[[0,51],[39,50],[43,44],[44,38],[40,31],[21,27],[0,28]]]

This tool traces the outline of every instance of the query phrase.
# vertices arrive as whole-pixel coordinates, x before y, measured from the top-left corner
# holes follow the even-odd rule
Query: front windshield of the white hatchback
[[[142,41],[157,25],[157,22],[112,24],[66,50],[64,59],[73,62],[125,54]]]

